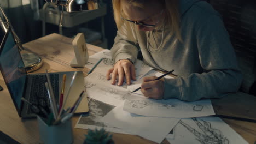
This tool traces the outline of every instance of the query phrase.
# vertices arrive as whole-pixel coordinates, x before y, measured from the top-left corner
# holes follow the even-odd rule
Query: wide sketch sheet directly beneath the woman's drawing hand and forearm
[[[129,94],[124,111],[142,116],[190,118],[214,115],[211,100],[185,102],[178,99],[154,100]]]

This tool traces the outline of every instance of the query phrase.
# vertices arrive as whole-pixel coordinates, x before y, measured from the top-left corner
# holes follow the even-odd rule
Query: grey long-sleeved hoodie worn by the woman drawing
[[[195,101],[236,92],[242,75],[220,14],[199,0],[180,0],[179,13],[182,42],[168,37],[167,26],[149,32],[134,28],[137,44],[118,31],[111,49],[114,61],[128,58],[135,62],[141,49],[143,61],[151,67],[174,69],[178,77],[165,79],[164,99]]]

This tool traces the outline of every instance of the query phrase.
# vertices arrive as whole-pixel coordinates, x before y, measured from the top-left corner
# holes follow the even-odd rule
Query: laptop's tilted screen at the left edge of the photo
[[[10,28],[4,36],[0,47],[0,69],[9,89],[16,109],[21,109],[21,97],[25,90],[26,71],[19,69],[24,66],[18,46],[15,43]]]

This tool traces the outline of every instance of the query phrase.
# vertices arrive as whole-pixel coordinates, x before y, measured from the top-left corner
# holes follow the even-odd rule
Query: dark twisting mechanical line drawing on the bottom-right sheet
[[[229,144],[229,140],[222,134],[219,129],[212,128],[210,122],[203,121],[200,122],[197,118],[191,118],[203,133],[200,133],[195,128],[190,127],[189,124],[184,123],[182,120],[179,121],[183,127],[187,128],[192,134],[194,134],[195,139],[202,144]]]

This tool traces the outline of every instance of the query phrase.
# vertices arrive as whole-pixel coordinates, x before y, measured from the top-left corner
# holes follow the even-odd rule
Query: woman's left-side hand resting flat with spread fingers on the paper
[[[121,59],[115,63],[112,69],[107,71],[107,80],[110,80],[110,74],[112,73],[111,84],[115,85],[115,81],[118,78],[118,86],[123,85],[124,76],[127,85],[131,85],[131,79],[136,80],[135,67],[129,59]],[[118,77],[117,77],[118,76]]]

